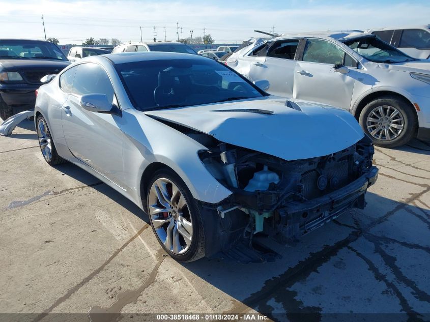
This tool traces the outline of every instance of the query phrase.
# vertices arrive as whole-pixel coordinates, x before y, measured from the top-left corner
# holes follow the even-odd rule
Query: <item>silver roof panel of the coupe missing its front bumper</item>
[[[103,56],[109,58],[113,64],[124,64],[142,61],[155,61],[155,60],[170,60],[170,59],[202,59],[206,57],[199,56],[191,53],[179,52],[162,52],[162,51],[144,51],[144,52],[121,52],[113,54],[105,54],[99,56],[91,56],[94,60],[103,59]],[[86,59],[86,58],[85,58]]]

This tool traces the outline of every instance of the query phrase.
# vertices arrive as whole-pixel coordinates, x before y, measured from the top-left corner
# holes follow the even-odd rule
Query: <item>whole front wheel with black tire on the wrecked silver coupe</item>
[[[156,187],[162,187],[159,188],[158,192],[164,191],[168,194],[168,198],[162,198],[160,202],[160,194],[157,194]],[[178,192],[174,193],[177,190],[179,194]],[[174,194],[176,197],[173,197]],[[184,199],[181,199],[182,197]],[[166,199],[169,199],[169,204],[166,203]],[[200,206],[178,174],[169,168],[155,171],[147,187],[146,200],[152,230],[161,247],[169,256],[182,262],[194,261],[205,256],[205,234]],[[185,206],[183,206],[184,201]],[[162,210],[166,211],[160,212]],[[192,229],[189,227],[190,223]],[[168,232],[169,229],[170,233]],[[192,233],[188,234],[187,229]],[[189,235],[191,238],[186,237]],[[170,242],[167,240],[169,237]],[[190,242],[187,243],[186,239]],[[176,243],[175,240],[177,240]]]

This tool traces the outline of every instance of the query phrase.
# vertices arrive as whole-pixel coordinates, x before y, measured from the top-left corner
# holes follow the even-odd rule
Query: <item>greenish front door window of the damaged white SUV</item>
[[[345,52],[335,44],[320,40],[308,39],[303,52],[303,61],[323,64],[343,64]]]

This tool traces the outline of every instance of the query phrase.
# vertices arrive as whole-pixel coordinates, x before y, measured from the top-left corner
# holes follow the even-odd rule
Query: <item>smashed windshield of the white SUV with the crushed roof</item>
[[[370,62],[392,64],[415,61],[415,58],[404,54],[377,37],[363,37],[343,43]]]

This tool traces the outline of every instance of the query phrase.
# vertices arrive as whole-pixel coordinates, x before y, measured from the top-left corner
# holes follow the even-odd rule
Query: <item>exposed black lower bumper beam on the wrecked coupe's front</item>
[[[278,209],[281,230],[286,237],[297,239],[351,208],[364,209],[364,195],[378,179],[378,168],[370,170],[349,185],[306,202],[291,201]]]

